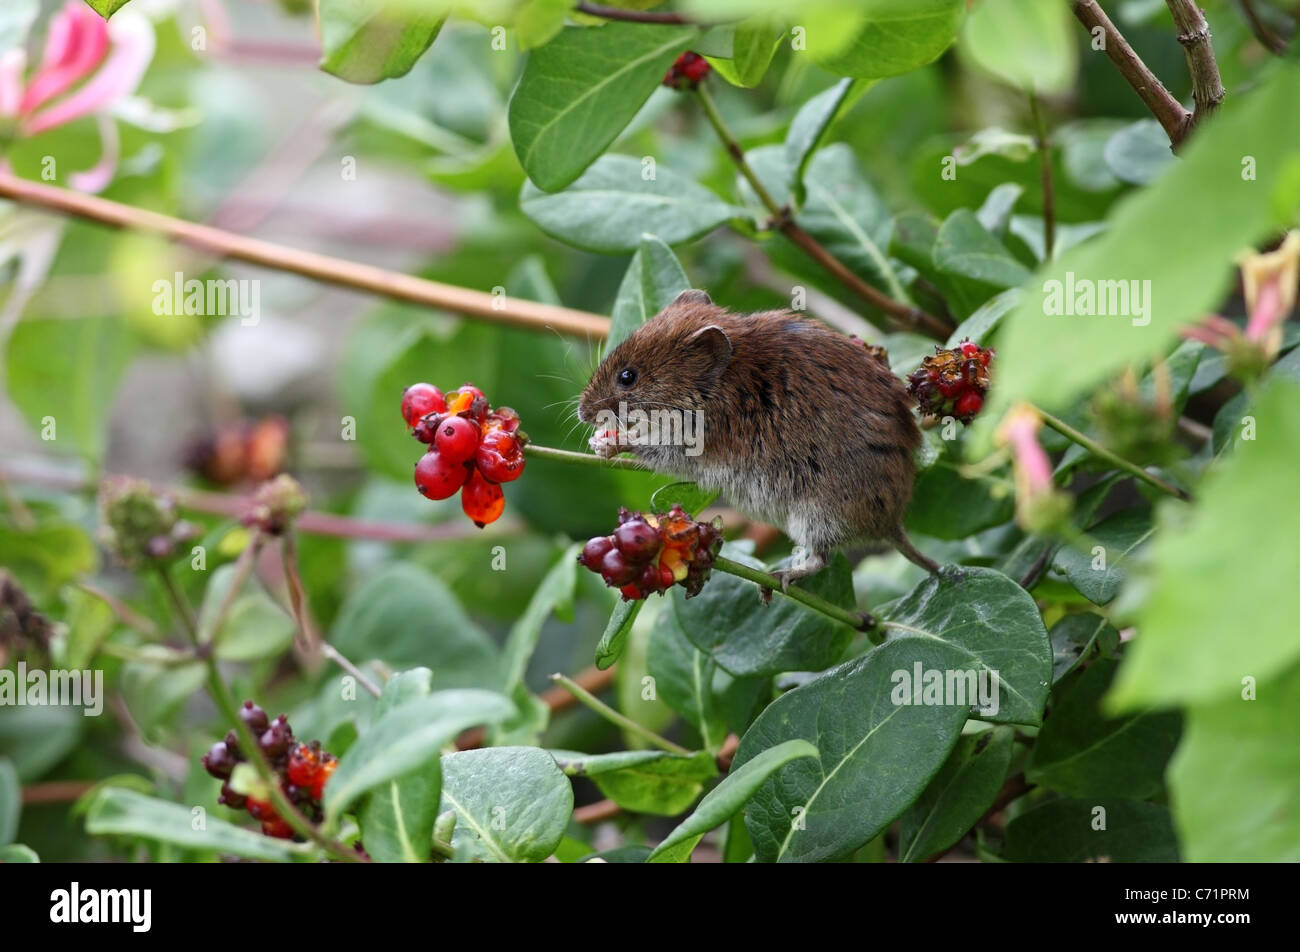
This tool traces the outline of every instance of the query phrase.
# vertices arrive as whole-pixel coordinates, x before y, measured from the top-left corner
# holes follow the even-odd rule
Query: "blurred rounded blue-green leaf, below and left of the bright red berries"
[[[447,585],[425,570],[395,563],[355,589],[334,622],[330,642],[354,662],[424,665],[439,687],[498,687],[500,661]]]

